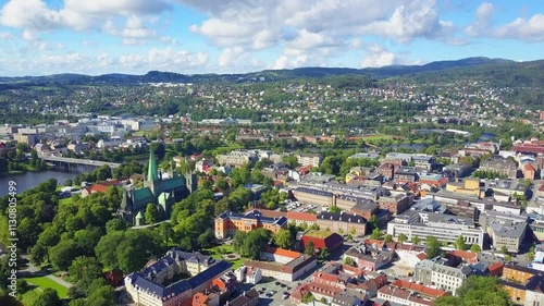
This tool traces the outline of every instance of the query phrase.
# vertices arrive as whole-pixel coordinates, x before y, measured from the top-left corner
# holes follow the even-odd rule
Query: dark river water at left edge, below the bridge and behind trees
[[[41,182],[45,182],[51,178],[57,179],[59,184],[64,184],[67,179],[75,179],[77,176],[76,172],[66,172],[66,171],[55,171],[55,170],[47,170],[41,172],[26,172],[22,174],[13,174],[9,176],[0,178],[0,196],[8,195],[8,187],[10,181],[15,181],[17,184],[17,194],[22,194],[23,192],[34,188]]]

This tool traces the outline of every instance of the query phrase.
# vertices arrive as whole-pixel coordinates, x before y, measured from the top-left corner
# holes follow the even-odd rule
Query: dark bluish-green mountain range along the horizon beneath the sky
[[[173,72],[150,71],[145,75],[131,74],[103,74],[89,76],[84,74],[54,74],[46,76],[23,76],[23,77],[0,77],[0,83],[7,84],[137,84],[137,83],[207,83],[207,82],[261,82],[261,81],[284,81],[300,77],[327,77],[337,75],[366,75],[372,78],[384,78],[405,75],[418,75],[432,72],[463,72],[466,69],[516,69],[528,68],[535,64],[540,68],[544,61],[518,63],[504,59],[489,58],[467,58],[456,61],[436,61],[423,65],[390,65],[383,68],[349,69],[349,68],[299,68],[293,70],[265,70],[244,74],[180,74]]]

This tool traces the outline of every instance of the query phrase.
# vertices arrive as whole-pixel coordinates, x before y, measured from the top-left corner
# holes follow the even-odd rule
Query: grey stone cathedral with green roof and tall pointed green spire
[[[123,188],[123,201],[119,215],[133,225],[143,225],[147,205],[153,204],[158,208],[159,220],[170,218],[172,206],[187,197],[194,189],[194,175],[189,174],[187,179],[175,171],[170,171],[168,179],[162,179],[151,150],[144,187],[136,188],[134,185],[128,185]]]

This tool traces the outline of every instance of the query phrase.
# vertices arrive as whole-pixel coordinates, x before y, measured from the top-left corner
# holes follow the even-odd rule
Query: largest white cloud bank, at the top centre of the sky
[[[211,15],[190,30],[221,47],[259,49],[296,39],[295,48],[311,48],[367,34],[408,42],[415,37],[443,39],[454,29],[452,22],[440,19],[434,0],[391,0],[380,5],[373,0],[222,1],[220,9],[214,1],[178,1]],[[289,39],[293,32],[298,37]]]

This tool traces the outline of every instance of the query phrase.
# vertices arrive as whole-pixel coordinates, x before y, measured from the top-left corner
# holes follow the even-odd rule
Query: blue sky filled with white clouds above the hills
[[[544,58],[542,0],[0,0],[0,75]]]

